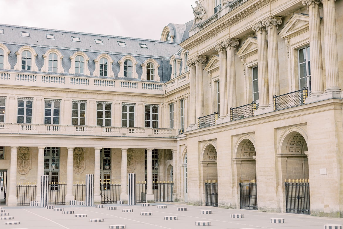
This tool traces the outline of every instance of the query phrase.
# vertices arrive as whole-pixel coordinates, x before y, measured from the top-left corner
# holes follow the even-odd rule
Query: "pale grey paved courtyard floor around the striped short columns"
[[[157,205],[167,205],[158,208]],[[116,206],[116,210],[108,210],[108,206]],[[177,211],[184,207],[187,211]],[[63,214],[61,211],[39,207],[6,207],[2,209],[11,220],[0,220],[1,229],[102,229],[110,225],[126,225],[129,229],[192,229],[203,228],[196,226],[196,221],[210,221],[215,229],[241,228],[281,228],[281,229],[323,229],[325,224],[343,225],[343,219],[314,217],[308,215],[265,213],[254,210],[224,209],[208,206],[190,206],[179,203],[151,203],[149,207],[141,204],[128,206],[127,204],[106,204],[104,208],[61,205],[65,211],[74,211],[74,214],[86,214],[87,217],[76,218],[74,214]],[[133,209],[133,212],[122,212],[122,209]],[[201,210],[212,210],[212,214],[201,214]],[[142,216],[141,212],[152,212],[151,216]],[[244,214],[244,218],[230,218],[230,214]],[[177,220],[165,220],[165,216],[177,216]],[[270,223],[271,218],[283,218],[284,224]],[[100,222],[90,222],[90,219],[103,219]],[[5,225],[5,222],[19,221],[20,225]]]

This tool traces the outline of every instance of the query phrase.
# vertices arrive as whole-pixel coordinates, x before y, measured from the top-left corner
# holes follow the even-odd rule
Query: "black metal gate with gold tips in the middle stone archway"
[[[240,209],[257,210],[256,180],[240,180]]]

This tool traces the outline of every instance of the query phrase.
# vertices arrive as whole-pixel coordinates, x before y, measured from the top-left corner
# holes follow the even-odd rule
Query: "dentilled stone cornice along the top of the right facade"
[[[194,46],[197,46],[197,45],[201,44],[205,40],[215,36],[220,31],[224,30],[225,28],[227,28],[227,27],[233,25],[234,23],[244,19],[245,17],[249,16],[250,14],[255,12],[256,10],[258,10],[259,8],[261,8],[264,5],[269,4],[270,2],[273,2],[273,1],[275,1],[275,0],[259,0],[259,1],[255,2],[255,3],[253,3],[252,5],[247,6],[245,9],[242,9],[241,11],[239,11],[236,14],[232,15],[230,18],[226,18],[225,16],[223,16],[222,18],[218,19],[218,21],[222,21],[222,23],[217,24],[210,31],[208,31],[206,33],[203,33],[203,35],[201,35],[200,37],[194,39],[190,43],[185,44],[185,45],[183,45],[181,43],[180,45],[181,45],[181,47],[183,47],[183,48],[185,48],[187,50],[190,50]],[[211,27],[211,25],[209,25],[208,27]],[[208,27],[206,27],[206,28],[208,28]],[[197,35],[197,34],[199,34],[199,32],[194,34],[194,35]],[[191,38],[192,37],[190,37],[188,39],[191,39]]]

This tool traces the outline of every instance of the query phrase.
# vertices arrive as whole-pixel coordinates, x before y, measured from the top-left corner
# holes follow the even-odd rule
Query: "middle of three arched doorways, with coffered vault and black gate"
[[[250,138],[250,139],[249,139]],[[256,151],[250,136],[239,141],[236,158],[236,182],[240,209],[257,210]]]

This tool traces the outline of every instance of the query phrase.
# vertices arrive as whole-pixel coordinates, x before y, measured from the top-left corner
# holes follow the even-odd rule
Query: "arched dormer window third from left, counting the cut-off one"
[[[42,56],[44,58],[44,65],[40,71],[42,72],[55,72],[63,73],[62,67],[63,56],[61,52],[55,48],[50,48]]]

